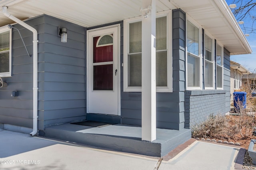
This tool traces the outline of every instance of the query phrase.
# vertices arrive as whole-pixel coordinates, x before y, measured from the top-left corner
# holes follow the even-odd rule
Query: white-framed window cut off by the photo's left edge
[[[0,28],[0,77],[11,76],[11,29]]]

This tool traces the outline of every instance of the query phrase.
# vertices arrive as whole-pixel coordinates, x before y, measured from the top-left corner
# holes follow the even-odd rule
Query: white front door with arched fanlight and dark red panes
[[[87,113],[120,115],[118,28],[87,31]]]

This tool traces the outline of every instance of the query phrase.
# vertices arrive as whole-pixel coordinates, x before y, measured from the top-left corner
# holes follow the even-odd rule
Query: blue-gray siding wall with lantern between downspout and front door
[[[44,49],[38,53],[38,129],[86,118],[86,29],[42,16]],[[61,43],[58,27],[68,29]]]

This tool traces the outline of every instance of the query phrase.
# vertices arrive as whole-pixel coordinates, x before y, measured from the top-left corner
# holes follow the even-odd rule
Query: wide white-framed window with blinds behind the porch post
[[[172,86],[171,16],[170,12],[156,16],[156,91],[170,92]],[[142,21],[124,20],[124,91],[141,92]]]

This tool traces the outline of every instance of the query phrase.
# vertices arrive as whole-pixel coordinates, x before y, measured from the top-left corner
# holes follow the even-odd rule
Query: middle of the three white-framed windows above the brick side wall
[[[204,86],[213,88],[213,40],[204,36]]]

